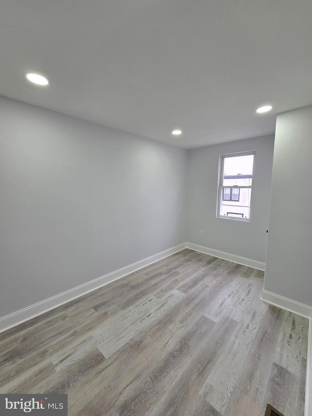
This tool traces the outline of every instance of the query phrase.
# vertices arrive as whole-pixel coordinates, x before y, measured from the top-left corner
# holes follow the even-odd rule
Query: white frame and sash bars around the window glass
[[[229,154],[224,154],[224,155],[219,155],[219,173],[218,173],[218,188],[217,188],[217,205],[216,205],[216,218],[225,218],[225,219],[233,219],[235,221],[244,221],[244,222],[251,222],[251,218],[252,218],[252,204],[253,204],[253,199],[252,195],[254,194],[253,190],[254,190],[254,163],[255,163],[255,150],[253,151],[248,151],[248,152],[237,152],[237,153],[229,153]],[[253,172],[252,172],[252,184],[248,185],[248,186],[237,186],[237,185],[221,185],[221,181],[223,178],[223,171],[224,171],[224,159],[225,158],[236,158],[239,156],[250,156],[250,155],[254,155],[254,163],[253,163]],[[221,203],[223,201],[223,189],[224,188],[247,188],[251,190],[251,197],[250,197],[250,207],[249,207],[249,218],[240,218],[240,217],[229,217],[227,215],[220,215],[220,210],[221,210]],[[232,192],[231,194],[232,195]],[[239,200],[235,201],[232,199],[224,199],[224,201],[232,201],[232,202],[239,202]]]

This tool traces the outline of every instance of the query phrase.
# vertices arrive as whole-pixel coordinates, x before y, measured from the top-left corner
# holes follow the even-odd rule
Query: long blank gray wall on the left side
[[[0,317],[186,241],[186,158],[0,98]]]

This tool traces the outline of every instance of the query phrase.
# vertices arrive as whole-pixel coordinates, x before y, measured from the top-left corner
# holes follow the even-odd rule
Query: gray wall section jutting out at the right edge
[[[264,289],[312,306],[312,106],[277,116]]]

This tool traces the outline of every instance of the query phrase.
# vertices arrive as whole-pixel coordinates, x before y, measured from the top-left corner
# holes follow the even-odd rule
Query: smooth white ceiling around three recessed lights
[[[269,135],[312,104],[312,1],[1,0],[0,95],[185,148]]]

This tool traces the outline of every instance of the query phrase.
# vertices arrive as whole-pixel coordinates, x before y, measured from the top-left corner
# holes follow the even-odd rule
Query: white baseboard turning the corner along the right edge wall
[[[267,290],[262,292],[261,300],[309,319],[304,416],[312,416],[312,307],[296,302],[295,300],[288,299],[287,297],[276,295],[276,293],[268,292]]]

